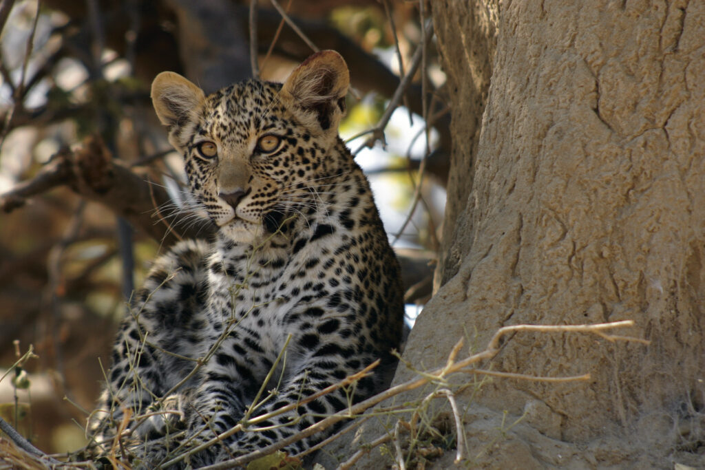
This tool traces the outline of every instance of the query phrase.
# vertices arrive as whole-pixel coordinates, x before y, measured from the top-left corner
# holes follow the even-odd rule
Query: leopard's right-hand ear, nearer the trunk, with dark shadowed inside
[[[294,70],[282,87],[282,97],[290,101],[302,124],[326,132],[338,130],[345,116],[345,94],[350,72],[341,54],[320,51]]]

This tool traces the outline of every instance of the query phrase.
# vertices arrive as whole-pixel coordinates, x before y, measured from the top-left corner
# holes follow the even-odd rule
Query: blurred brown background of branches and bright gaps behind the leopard
[[[341,135],[372,182],[412,324],[431,294],[450,154],[452,90],[428,9],[392,0],[2,0],[0,416],[46,452],[82,447],[126,302],[173,242],[159,214],[193,228],[178,223],[182,163],[149,100],[163,70],[213,92],[253,73],[282,81],[314,48],[343,55],[354,89]],[[137,216],[147,222],[136,226],[51,173],[56,154],[87,137],[171,204],[146,200]],[[36,357],[17,364],[30,345]]]

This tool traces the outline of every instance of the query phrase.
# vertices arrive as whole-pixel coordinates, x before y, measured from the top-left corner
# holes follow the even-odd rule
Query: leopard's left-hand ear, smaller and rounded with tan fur
[[[162,124],[173,132],[195,117],[205,95],[178,73],[162,72],[152,82],[152,104]]]

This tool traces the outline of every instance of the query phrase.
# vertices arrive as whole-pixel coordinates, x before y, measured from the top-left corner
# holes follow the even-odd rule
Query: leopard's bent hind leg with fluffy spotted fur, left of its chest
[[[135,437],[144,440],[183,421],[185,392],[192,383],[165,395],[195,366],[188,358],[197,357],[193,345],[200,342],[205,323],[206,252],[206,245],[183,242],[162,256],[125,316],[98,411],[89,423],[103,450],[117,428],[136,431]]]

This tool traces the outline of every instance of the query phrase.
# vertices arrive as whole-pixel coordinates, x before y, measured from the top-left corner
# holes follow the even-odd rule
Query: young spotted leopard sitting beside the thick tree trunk
[[[177,73],[154,79],[194,211],[215,230],[159,256],[135,293],[89,423],[98,454],[197,468],[286,442],[295,456],[332,428],[293,436],[388,387],[403,286],[338,134],[349,88],[336,51],[283,83],[209,95]]]

